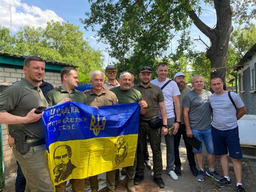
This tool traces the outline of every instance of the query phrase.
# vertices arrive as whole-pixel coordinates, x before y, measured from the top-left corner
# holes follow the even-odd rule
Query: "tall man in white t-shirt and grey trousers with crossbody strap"
[[[157,66],[158,78],[152,80],[151,83],[159,87],[163,87],[165,85],[162,91],[163,91],[163,96],[165,98],[165,108],[167,113],[167,124],[168,124],[167,126],[168,126],[168,129],[171,127],[174,127],[172,136],[169,134],[165,135],[166,161],[167,161],[166,171],[167,171],[167,174],[169,174],[173,180],[177,180],[178,176],[173,171],[174,160],[175,160],[174,135],[176,135],[176,133],[178,132],[178,128],[181,124],[180,101],[179,101],[180,90],[176,82],[172,80],[169,81],[170,79],[167,78],[167,74],[168,74],[167,63],[159,63]],[[167,82],[169,83],[167,84]],[[174,107],[175,107],[176,117],[174,114]],[[158,108],[158,116],[162,118],[159,108]]]

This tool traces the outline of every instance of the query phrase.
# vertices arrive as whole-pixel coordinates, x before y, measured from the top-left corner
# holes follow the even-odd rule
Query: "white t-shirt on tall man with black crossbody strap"
[[[157,79],[154,79],[151,81],[151,83],[161,88],[169,80],[170,79],[166,78],[165,81],[159,82]],[[178,88],[177,83],[174,81],[171,81],[165,86],[165,88],[163,88],[162,91],[163,91],[163,97],[165,98],[165,108],[166,108],[167,118],[175,117],[174,110],[173,110],[174,109],[173,96],[180,95],[180,90]],[[159,110],[159,106],[158,106],[158,116],[159,118],[162,118]]]

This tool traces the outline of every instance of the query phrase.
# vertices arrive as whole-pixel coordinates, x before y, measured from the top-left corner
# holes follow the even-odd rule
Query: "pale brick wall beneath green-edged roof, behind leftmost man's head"
[[[25,74],[23,69],[11,69],[0,67],[0,85],[10,85],[20,78],[24,78]],[[45,72],[44,80],[55,86],[61,86],[60,73]]]

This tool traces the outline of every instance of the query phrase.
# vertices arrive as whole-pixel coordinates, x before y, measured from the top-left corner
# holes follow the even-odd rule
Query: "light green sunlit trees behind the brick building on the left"
[[[10,53],[9,29],[0,26],[0,51]],[[12,38],[13,54],[37,55],[46,60],[59,61],[79,66],[79,80],[90,80],[90,72],[102,70],[104,56],[100,50],[91,48],[83,40],[79,26],[73,24],[47,22],[47,27],[20,28]]]

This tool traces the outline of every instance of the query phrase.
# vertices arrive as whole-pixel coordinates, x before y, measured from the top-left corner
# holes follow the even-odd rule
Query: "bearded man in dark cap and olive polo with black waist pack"
[[[158,187],[164,188],[165,183],[162,180],[162,152],[161,152],[161,136],[167,134],[167,116],[165,109],[165,102],[163,92],[160,87],[150,83],[152,77],[151,67],[144,66],[140,69],[139,74],[141,82],[136,84],[133,88],[140,91],[143,99],[150,106],[150,110],[140,116],[139,121],[139,133],[138,133],[138,151],[137,151],[137,167],[134,184],[139,185],[144,180],[144,143],[145,135],[147,134],[150,146],[153,153],[153,172],[154,182]],[[163,126],[157,129],[152,128],[146,121],[152,120],[158,117],[158,106],[162,116]]]

